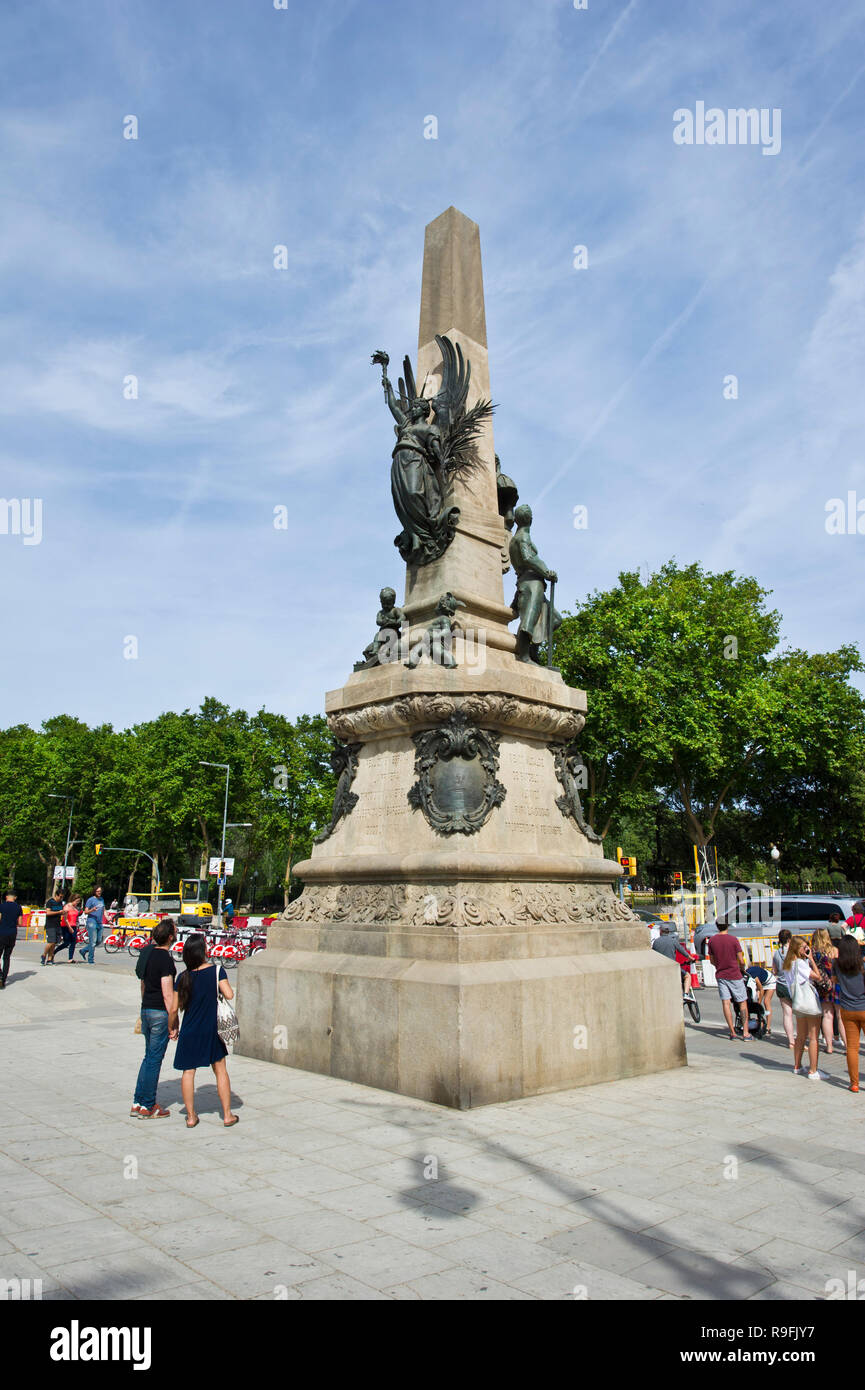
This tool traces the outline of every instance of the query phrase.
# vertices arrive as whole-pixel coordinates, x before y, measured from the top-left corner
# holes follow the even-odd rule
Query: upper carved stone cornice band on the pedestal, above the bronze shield
[[[464,710],[478,724],[523,730],[559,741],[576,738],[585,724],[585,716],[577,710],[496,694],[403,695],[360,709],[339,710],[328,714],[327,721],[337,738],[363,739],[424,724],[442,724],[458,710]]]

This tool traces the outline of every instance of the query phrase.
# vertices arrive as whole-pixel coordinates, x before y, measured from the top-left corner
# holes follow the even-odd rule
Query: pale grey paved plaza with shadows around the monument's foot
[[[825,1298],[865,1272],[865,1094],[841,1052],[793,1076],[780,1016],[730,1042],[700,999],[687,1069],[460,1113],[235,1056],[241,1123],[200,1072],[186,1130],[172,1044],[171,1118],[128,1113],[129,958],[40,969],[22,944],[0,1277],[57,1300]]]

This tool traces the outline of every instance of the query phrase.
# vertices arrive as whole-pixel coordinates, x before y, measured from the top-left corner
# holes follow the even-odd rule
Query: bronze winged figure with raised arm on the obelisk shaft
[[[476,452],[484,421],[492,414],[488,400],[466,410],[471,363],[459,343],[435,335],[442,354],[441,389],[431,399],[417,391],[409,357],[399,378],[399,396],[388,381],[387,352],[374,352],[381,385],[396,421],[391,464],[391,495],[402,531],[394,539],[406,564],[438,560],[453,539],[459,507],[449,503],[451,484],[478,467]],[[431,418],[430,418],[431,417]]]

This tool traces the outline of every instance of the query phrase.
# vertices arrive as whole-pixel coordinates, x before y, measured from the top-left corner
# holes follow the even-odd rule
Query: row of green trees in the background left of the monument
[[[332,737],[320,714],[295,723],[282,714],[231,710],[206,699],[196,712],[163,713],[115,731],[88,728],[61,714],[40,730],[24,724],[0,731],[0,876],[39,897],[61,865],[72,810],[70,863],[78,884],[97,877],[114,885],[150,887],[150,862],[163,887],[181,876],[204,877],[218,855],[225,774],[202,762],[227,763],[229,828],[225,853],[235,858],[229,890],[249,895],[252,876],[267,897],[288,894],[291,865],[312,851],[316,827],[327,823],[334,794]],[[117,853],[96,844],[142,851]]]

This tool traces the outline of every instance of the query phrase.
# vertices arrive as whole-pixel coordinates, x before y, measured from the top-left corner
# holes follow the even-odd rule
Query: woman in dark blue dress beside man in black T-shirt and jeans
[[[195,1113],[195,1072],[199,1066],[213,1068],[223,1106],[223,1123],[228,1127],[236,1125],[241,1116],[231,1113],[231,1081],[225,1066],[228,1048],[217,1031],[217,988],[227,999],[234,999],[234,990],[228,983],[225,966],[207,959],[204,937],[186,938],[184,965],[186,969],[177,981],[177,1005],[184,1017],[174,1065],[184,1073],[181,1091],[186,1106],[186,1129],[195,1129],[199,1122]]]

